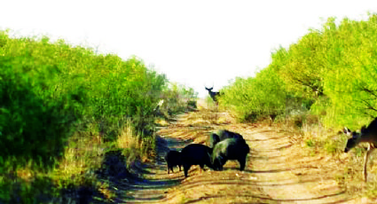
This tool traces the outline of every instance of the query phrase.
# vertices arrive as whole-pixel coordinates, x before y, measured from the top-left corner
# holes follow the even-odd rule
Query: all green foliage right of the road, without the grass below
[[[340,25],[329,18],[322,29],[311,29],[288,49],[274,51],[270,66],[255,77],[236,79],[225,89],[224,105],[245,119],[290,113],[294,101],[296,108],[320,115],[327,126],[359,128],[377,115],[376,37],[375,14],[366,21],[344,19]]]

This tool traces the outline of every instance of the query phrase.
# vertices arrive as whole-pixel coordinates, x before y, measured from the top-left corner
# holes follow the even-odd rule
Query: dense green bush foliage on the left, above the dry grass
[[[51,167],[74,128],[92,122],[106,140],[127,118],[138,131],[152,129],[167,79],[141,60],[96,55],[47,37],[12,39],[6,32],[0,44],[1,163]]]

